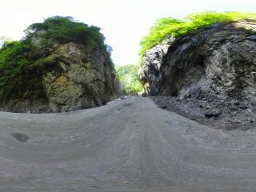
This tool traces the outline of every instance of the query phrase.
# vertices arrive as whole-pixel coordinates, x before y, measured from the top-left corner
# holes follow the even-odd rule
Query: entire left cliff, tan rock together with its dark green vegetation
[[[66,23],[68,26],[64,26]],[[26,42],[10,45],[11,54],[22,46],[22,51],[14,54],[16,60],[11,63],[11,57],[2,59],[7,70],[18,72],[12,73],[14,83],[8,79],[0,82],[1,110],[65,112],[102,106],[114,99],[114,64],[99,28],[61,17],[33,27]],[[0,73],[7,70],[0,69]]]

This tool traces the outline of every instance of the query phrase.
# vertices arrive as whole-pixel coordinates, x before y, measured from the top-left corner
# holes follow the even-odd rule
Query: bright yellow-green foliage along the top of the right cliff
[[[142,38],[140,58],[146,50],[160,44],[165,38],[176,38],[182,34],[188,34],[202,29],[214,23],[226,23],[243,19],[256,19],[256,13],[240,12],[203,12],[189,14],[184,20],[177,18],[160,18],[150,28],[150,34]]]

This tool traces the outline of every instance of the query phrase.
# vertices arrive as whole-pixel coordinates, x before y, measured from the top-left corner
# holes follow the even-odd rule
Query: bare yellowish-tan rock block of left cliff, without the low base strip
[[[49,71],[43,85],[54,112],[102,106],[114,97],[114,69],[102,50],[91,52],[77,43],[60,46],[53,54],[62,55],[61,71]]]

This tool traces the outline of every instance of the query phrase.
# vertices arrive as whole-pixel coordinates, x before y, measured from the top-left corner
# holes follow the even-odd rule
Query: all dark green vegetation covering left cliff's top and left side
[[[42,75],[47,67],[57,66],[62,60],[48,57],[56,44],[79,42],[88,50],[96,46],[108,50],[100,28],[74,22],[70,17],[46,18],[42,23],[30,25],[25,32],[26,37],[21,41],[6,41],[0,49],[0,102],[45,97]]]

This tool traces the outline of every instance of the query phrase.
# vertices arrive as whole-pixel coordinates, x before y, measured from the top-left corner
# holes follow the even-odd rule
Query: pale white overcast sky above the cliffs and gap
[[[34,22],[51,16],[72,16],[78,22],[102,28],[113,48],[115,65],[138,64],[139,42],[158,18],[184,18],[213,10],[256,12],[255,0],[2,0],[0,38],[14,40]]]

